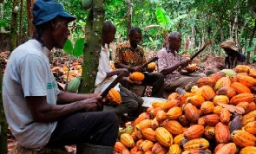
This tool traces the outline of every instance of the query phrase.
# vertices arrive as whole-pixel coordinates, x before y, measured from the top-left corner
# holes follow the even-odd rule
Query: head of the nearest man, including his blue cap
[[[37,0],[33,5],[34,38],[47,48],[63,48],[70,35],[68,23],[75,17],[69,15],[60,3],[52,0]]]

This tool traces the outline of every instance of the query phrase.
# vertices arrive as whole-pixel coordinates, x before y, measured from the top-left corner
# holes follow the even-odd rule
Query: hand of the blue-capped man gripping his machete
[[[96,96],[79,101],[82,103],[84,112],[96,112],[102,107],[102,96]]]

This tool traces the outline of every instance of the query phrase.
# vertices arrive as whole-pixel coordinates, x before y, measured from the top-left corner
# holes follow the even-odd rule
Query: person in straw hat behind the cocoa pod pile
[[[225,42],[220,43],[220,48],[223,48],[226,53],[225,65],[226,68],[234,68],[240,62],[246,61],[246,56],[242,55],[239,52],[239,48],[237,48],[232,40],[227,40]]]

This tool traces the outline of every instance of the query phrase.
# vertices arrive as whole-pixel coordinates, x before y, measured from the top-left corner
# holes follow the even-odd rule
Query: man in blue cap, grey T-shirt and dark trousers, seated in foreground
[[[10,131],[30,149],[85,144],[82,153],[112,154],[119,124],[115,113],[95,112],[102,106],[99,93],[59,91],[50,70],[50,50],[63,48],[75,17],[51,0],[37,0],[33,15],[34,38],[12,51],[3,75]]]

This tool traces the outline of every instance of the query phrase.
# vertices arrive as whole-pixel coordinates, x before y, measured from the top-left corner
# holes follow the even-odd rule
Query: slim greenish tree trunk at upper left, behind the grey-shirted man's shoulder
[[[13,0],[12,16],[10,20],[10,51],[14,50],[14,48],[17,46],[17,13],[18,10],[21,10],[21,8],[16,10],[16,8],[19,6],[18,3],[18,0]]]

